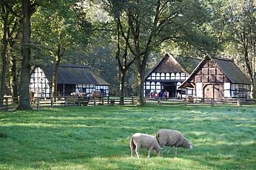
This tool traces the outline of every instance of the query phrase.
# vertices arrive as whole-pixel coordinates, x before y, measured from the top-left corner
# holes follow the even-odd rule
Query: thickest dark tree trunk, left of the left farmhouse
[[[22,1],[22,45],[21,45],[21,84],[18,109],[31,109],[30,107],[30,17],[32,15],[30,0]]]

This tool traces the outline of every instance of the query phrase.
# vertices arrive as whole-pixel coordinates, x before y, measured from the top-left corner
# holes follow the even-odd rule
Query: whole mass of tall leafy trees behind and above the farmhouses
[[[138,105],[143,105],[145,72],[164,52],[234,58],[251,78],[255,97],[255,3],[3,0],[1,98],[20,96],[20,108],[30,108],[31,70],[38,64],[55,64],[58,75],[58,64],[70,63],[89,65],[110,82],[112,95],[137,94]]]

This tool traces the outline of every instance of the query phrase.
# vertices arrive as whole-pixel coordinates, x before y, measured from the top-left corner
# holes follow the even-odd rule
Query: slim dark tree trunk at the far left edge
[[[5,83],[6,83],[6,70],[7,70],[7,24],[8,24],[8,17],[9,13],[8,11],[5,13],[5,16],[3,14],[3,20],[4,20],[4,33],[2,38],[2,51],[1,51],[1,62],[3,64],[2,70],[1,70],[1,89],[0,89],[0,105],[3,103],[4,94],[6,92]]]

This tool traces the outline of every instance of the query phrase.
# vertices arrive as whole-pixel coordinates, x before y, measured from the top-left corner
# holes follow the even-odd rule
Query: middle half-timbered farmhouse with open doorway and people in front
[[[175,98],[181,97],[181,85],[189,73],[172,57],[166,54],[164,58],[146,74],[144,81],[144,97],[153,97],[152,95]],[[183,89],[183,97],[192,95],[193,89]]]

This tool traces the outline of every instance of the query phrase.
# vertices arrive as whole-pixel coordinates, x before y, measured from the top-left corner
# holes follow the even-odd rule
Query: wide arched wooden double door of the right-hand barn
[[[203,88],[203,98],[223,98],[222,84],[208,84]]]

